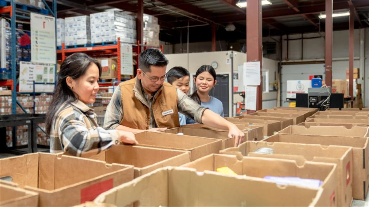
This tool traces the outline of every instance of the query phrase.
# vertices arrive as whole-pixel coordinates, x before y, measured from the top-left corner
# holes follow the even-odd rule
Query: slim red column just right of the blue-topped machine
[[[325,84],[332,86],[332,10],[333,0],[325,0]]]

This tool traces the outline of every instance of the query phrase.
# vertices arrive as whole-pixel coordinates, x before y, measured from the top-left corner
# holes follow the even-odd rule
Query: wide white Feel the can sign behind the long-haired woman
[[[33,81],[36,83],[55,82],[55,64],[20,62],[19,91],[33,92]],[[52,92],[55,85],[36,84],[36,92]]]

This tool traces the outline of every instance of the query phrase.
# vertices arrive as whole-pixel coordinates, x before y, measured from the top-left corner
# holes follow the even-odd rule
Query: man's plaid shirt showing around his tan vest
[[[144,90],[142,89],[141,81],[137,79],[135,87],[135,92],[141,92],[138,95],[142,97],[142,104],[146,106],[152,106],[152,100],[154,99],[155,95],[151,99],[148,99],[148,95],[145,94]],[[166,97],[170,98],[170,97]],[[198,103],[194,102],[190,97],[184,94],[181,90],[177,89],[177,107],[178,112],[182,113],[183,115],[190,117],[191,119],[195,120],[198,123],[201,122],[201,117],[204,113],[204,110],[208,109],[206,107],[200,106]],[[152,111],[152,107],[150,107],[150,129],[158,127],[154,120],[154,112]],[[111,97],[111,101],[106,108],[106,113],[104,117],[104,128],[105,129],[115,129],[117,126],[120,125],[122,120],[124,119],[123,116],[123,105],[122,105],[122,96],[120,87],[115,89],[113,97]]]

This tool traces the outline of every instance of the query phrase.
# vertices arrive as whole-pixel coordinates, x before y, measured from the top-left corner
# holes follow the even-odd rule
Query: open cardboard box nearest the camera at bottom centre
[[[261,193],[268,191],[266,194]],[[278,186],[259,178],[162,168],[96,198],[116,206],[329,206],[322,189]],[[293,199],[292,199],[293,198]]]

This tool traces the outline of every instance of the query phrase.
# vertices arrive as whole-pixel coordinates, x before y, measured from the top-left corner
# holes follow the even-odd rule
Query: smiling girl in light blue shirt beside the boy
[[[201,106],[207,107],[213,112],[224,117],[223,103],[219,101],[219,99],[209,95],[211,89],[217,84],[216,76],[217,74],[213,67],[209,65],[201,66],[193,78],[193,82],[196,84],[197,90],[191,95],[191,98]],[[186,124],[192,123],[196,122],[187,117]]]

